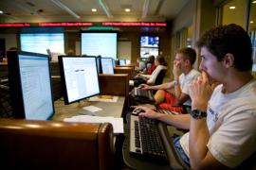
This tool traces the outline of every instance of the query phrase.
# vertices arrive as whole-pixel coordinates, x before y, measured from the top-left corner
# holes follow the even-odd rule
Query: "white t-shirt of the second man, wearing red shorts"
[[[181,74],[179,76],[179,84],[180,84],[180,89],[182,93],[186,93],[190,95],[190,89],[191,89],[190,86],[191,86],[192,80],[195,79],[197,76],[200,76],[200,72],[194,69],[192,69],[188,75]],[[192,106],[192,100],[191,99],[187,100],[184,103],[184,105]]]

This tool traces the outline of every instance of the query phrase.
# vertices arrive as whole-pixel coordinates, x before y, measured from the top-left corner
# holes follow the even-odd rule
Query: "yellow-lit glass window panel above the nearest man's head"
[[[223,7],[222,25],[231,23],[246,28],[247,0],[231,0]]]

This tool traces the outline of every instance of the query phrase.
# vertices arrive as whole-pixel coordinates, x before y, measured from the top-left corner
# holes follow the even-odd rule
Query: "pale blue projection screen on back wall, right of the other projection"
[[[117,59],[117,32],[82,32],[82,55]]]

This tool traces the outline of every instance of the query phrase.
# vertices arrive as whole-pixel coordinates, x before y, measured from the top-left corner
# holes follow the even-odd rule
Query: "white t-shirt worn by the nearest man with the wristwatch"
[[[239,90],[224,94],[222,85],[215,88],[208,105],[207,126],[211,155],[234,168],[256,151],[256,81]],[[189,133],[180,140],[188,156]]]

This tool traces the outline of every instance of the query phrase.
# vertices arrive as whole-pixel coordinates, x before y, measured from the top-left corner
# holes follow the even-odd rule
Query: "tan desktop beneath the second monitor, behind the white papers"
[[[124,96],[119,96],[118,102],[110,103],[110,102],[92,102],[92,101],[82,101],[72,103],[70,105],[64,105],[64,100],[59,99],[54,102],[55,105],[55,114],[51,118],[51,120],[55,121],[63,121],[64,118],[72,117],[78,115],[79,112],[88,115],[97,115],[97,116],[113,116],[113,117],[121,117],[123,105],[124,105]],[[86,106],[95,106],[101,108],[101,111],[90,112],[88,110],[82,110],[83,107]]]

